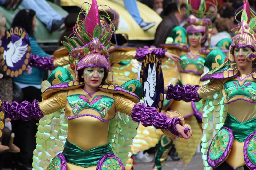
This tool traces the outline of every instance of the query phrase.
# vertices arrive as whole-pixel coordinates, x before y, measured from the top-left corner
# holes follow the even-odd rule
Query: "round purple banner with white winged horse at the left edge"
[[[3,37],[0,47],[0,61],[6,75],[18,77],[26,70],[30,50],[28,33],[22,27],[11,27]]]

